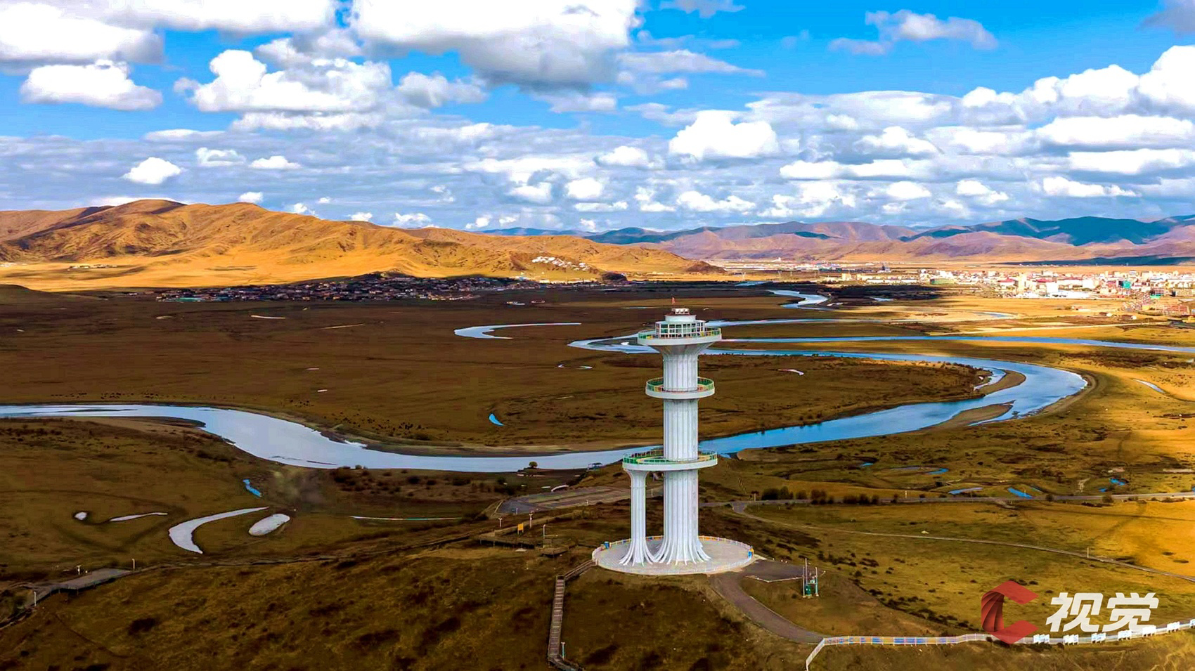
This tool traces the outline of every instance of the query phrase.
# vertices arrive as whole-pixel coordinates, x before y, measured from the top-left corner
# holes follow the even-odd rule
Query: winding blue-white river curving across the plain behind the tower
[[[791,295],[803,298],[804,306],[816,304],[823,296],[798,295],[795,291],[774,291],[779,295]],[[798,307],[802,307],[797,303]],[[816,308],[815,308],[816,309]],[[776,320],[721,320],[711,321],[711,326],[746,326],[754,324],[785,324],[793,319]],[[560,324],[563,325],[563,324]],[[574,325],[574,324],[568,324]],[[456,330],[456,336],[467,338],[502,338],[492,336],[498,328],[520,326],[549,326],[549,324],[496,325]],[[897,336],[897,337],[854,337],[854,338],[734,338],[724,343],[799,343],[807,345],[833,343],[874,343],[901,340],[945,340],[967,343],[1034,343],[1059,345],[1085,345],[1098,347],[1116,347],[1128,350],[1150,350],[1168,352],[1195,352],[1195,347],[1166,345],[1116,343],[1107,340],[1086,340],[1074,338],[1027,338],[1027,337],[975,337],[975,336]],[[644,353],[652,352],[649,347],[632,344],[632,337],[599,338],[577,340],[570,346],[600,351]],[[838,356],[851,358],[872,358],[905,362],[956,363],[987,370],[992,381],[998,381],[1009,371],[1019,373],[1025,381],[987,394],[978,399],[943,402],[907,404],[890,410],[866,414],[831,419],[803,426],[788,426],[767,431],[740,433],[723,438],[703,441],[703,450],[719,454],[733,454],[746,449],[774,448],[780,445],[839,441],[846,438],[865,438],[926,429],[946,421],[961,412],[988,407],[1006,406],[999,417],[985,421],[1000,421],[1025,417],[1074,395],[1084,389],[1086,381],[1068,370],[1061,370],[1038,364],[994,361],[968,356],[934,356],[894,352],[842,352],[832,350],[744,350],[711,349],[710,355],[717,356]],[[630,383],[630,382],[629,382]],[[629,389],[630,390],[630,389]],[[609,463],[623,456],[650,448],[627,448],[602,451],[580,451],[554,455],[526,456],[454,456],[454,455],[409,455],[369,449],[364,443],[337,441],[302,424],[280,419],[256,412],[235,408],[203,406],[148,405],[148,404],[71,404],[71,405],[8,405],[0,406],[0,418],[16,417],[165,417],[200,421],[204,430],[220,436],[237,448],[264,460],[311,468],[336,468],[339,466],[362,466],[366,468],[413,468],[431,470],[456,470],[473,473],[502,473],[525,468],[529,461],[535,461],[540,468],[583,468],[593,463]]]

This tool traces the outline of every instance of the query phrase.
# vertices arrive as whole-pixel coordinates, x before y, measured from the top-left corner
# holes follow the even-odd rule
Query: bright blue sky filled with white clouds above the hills
[[[1195,0],[0,0],[0,208],[387,226],[1195,211]]]

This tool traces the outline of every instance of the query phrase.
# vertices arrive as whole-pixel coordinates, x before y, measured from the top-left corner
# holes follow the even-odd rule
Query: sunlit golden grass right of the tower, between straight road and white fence
[[[1081,556],[1015,547],[1016,543],[1022,543],[1085,554],[1083,547],[1077,547],[1080,543],[1076,543],[1074,538],[1068,542],[1053,540],[1067,535],[1074,527],[1084,528],[1084,531],[1089,534],[1087,537],[1098,536],[1101,529],[1107,533],[1103,519],[1089,521],[1085,510],[1079,506],[1073,506],[1078,510],[1059,518],[1038,515],[1034,518],[1032,524],[1027,523],[1015,510],[1000,509],[992,504],[974,510],[956,510],[960,506],[940,505],[937,507],[950,510],[925,513],[926,516],[954,513],[956,519],[954,525],[919,519],[920,507],[931,506],[911,506],[919,510],[900,511],[905,512],[905,521],[891,519],[887,524],[869,523],[872,517],[870,507],[875,506],[869,506],[869,510],[850,512],[831,511],[828,515],[833,519],[820,522],[809,522],[808,519],[810,517],[816,519],[821,511],[810,511],[804,507],[785,510],[773,506],[755,506],[749,507],[748,513],[774,521],[778,524],[791,525],[819,540],[816,550],[798,548],[796,553],[789,553],[780,548],[779,553],[792,554],[793,560],[809,558],[810,564],[828,567],[831,575],[836,580],[848,579],[885,604],[936,622],[938,633],[945,635],[979,630],[979,597],[1005,580],[1017,580],[1044,597],[1029,604],[1018,605],[1016,610],[1019,618],[1029,620],[1038,626],[1043,626],[1046,618],[1058,610],[1056,605],[1050,604],[1050,599],[1061,592],[1072,595],[1076,592],[1102,592],[1109,596],[1116,592],[1141,595],[1154,592],[1158,595],[1159,605],[1151,622],[1158,624],[1175,620],[1185,621],[1190,618],[1191,614],[1195,614],[1195,583],[1114,564],[1089,561]],[[878,516],[887,516],[888,511],[906,506],[878,507],[884,510]],[[1166,517],[1165,510],[1168,509],[1151,511],[1154,512],[1154,529],[1169,528],[1173,531],[1184,524],[1185,521]],[[968,525],[972,527],[970,531],[958,531],[960,528]],[[1129,535],[1135,535],[1134,531],[1142,533],[1146,525],[1140,527],[1130,530]],[[985,531],[980,534],[976,528],[982,528]],[[1001,544],[923,536],[997,541]],[[1140,537],[1130,537],[1124,541],[1122,547],[1140,547],[1134,541],[1140,541]],[[1183,543],[1177,538],[1164,543],[1175,548],[1189,544],[1189,542]],[[1110,549],[1108,543],[1104,544],[1104,548]],[[1102,556],[1095,552],[1096,549],[1098,547],[1092,548],[1092,555]],[[1162,556],[1162,552],[1166,550],[1159,550],[1157,546],[1151,552],[1157,554],[1158,559],[1168,559]],[[1176,573],[1187,571],[1182,565],[1170,561],[1166,564],[1165,571]],[[788,587],[777,585],[788,585]],[[766,587],[759,586],[755,593],[761,597],[764,603],[774,602],[780,604],[776,608],[784,608],[785,599],[792,601],[791,590],[793,589],[796,587],[791,583],[767,584]],[[1107,623],[1107,612],[1103,614],[1103,617],[1097,617],[1096,621]],[[814,628],[813,621],[802,621],[803,617],[802,615],[793,621]],[[899,630],[899,628],[888,627],[881,633],[895,634]],[[859,629],[850,618],[839,617],[838,628],[823,633],[863,634],[870,632]]]

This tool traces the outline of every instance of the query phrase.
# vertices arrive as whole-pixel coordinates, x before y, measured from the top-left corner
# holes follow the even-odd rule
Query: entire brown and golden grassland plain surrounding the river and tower
[[[658,362],[566,344],[632,333],[661,310],[626,308],[662,309],[673,294],[698,314],[719,319],[917,320],[845,322],[841,331],[817,322],[728,327],[728,337],[978,331],[1195,346],[1195,331],[1165,321],[1126,324],[1077,314],[1066,307],[1070,303],[997,301],[949,291],[932,300],[852,303],[832,310],[780,308],[786,298],[710,287],[613,295],[546,290],[537,294],[546,303],[523,308],[502,304],[519,300],[514,295],[464,306],[418,307],[38,300],[0,309],[0,332],[25,331],[0,340],[0,365],[20,381],[19,387],[6,388],[0,400],[223,402],[345,432],[443,443],[574,442],[577,435],[564,426],[569,421],[581,423],[588,432],[608,433],[607,442],[655,441],[658,408],[649,400],[632,399],[638,398],[641,378],[657,375]],[[84,303],[86,309],[79,307]],[[288,319],[259,320],[250,314]],[[511,340],[452,336],[462,326],[533,321],[583,325],[496,332]],[[347,324],[362,326],[326,328]],[[768,345],[790,346],[801,349]],[[1184,415],[1195,411],[1175,394],[1183,376],[1195,371],[1191,356],[1011,343],[840,343],[834,347],[1043,363],[1080,373],[1091,386],[1050,412],[1016,421],[955,423],[914,433],[750,450],[704,470],[704,500],[749,500],[783,490],[796,495],[819,488],[839,501],[756,505],[747,507],[746,515],[725,506],[703,509],[703,533],[748,542],[779,560],[809,559],[827,571],[817,601],[797,597],[792,581],[744,580],[744,589],[758,601],[798,626],[827,634],[973,632],[979,628],[979,597],[1007,579],[1025,584],[1041,598],[1010,605],[1006,618],[1027,618],[1038,626],[1055,608],[1049,599],[1062,591],[1153,591],[1162,602],[1158,622],[1195,616],[1195,583],[1042,549],[966,542],[1022,543],[1084,554],[1090,548],[1097,558],[1195,574],[1189,568],[1195,560],[1195,501],[1043,500],[1046,494],[1098,495],[1099,488],[1189,491],[1195,485],[1195,427]],[[124,357],[105,362],[99,357],[106,351],[121,351]],[[30,359],[50,362],[49,370],[19,365]],[[743,359],[748,358],[703,359],[703,371],[717,380],[719,392],[703,404],[704,435],[814,421],[890,402],[961,396],[976,382],[972,373],[952,368],[820,357]],[[562,363],[565,368],[557,368]],[[780,370],[790,368],[805,375]],[[1159,394],[1136,380],[1171,393]],[[329,392],[314,393],[317,388]],[[560,398],[569,395],[580,400]],[[490,412],[511,421],[505,427],[490,425]],[[602,412],[606,417],[599,415]],[[403,549],[425,538],[494,528],[494,522],[470,518],[502,495],[495,491],[501,486],[498,476],[476,475],[453,484],[452,474],[283,467],[186,427],[143,421],[10,420],[0,421],[0,429],[7,430],[0,431],[0,497],[17,497],[12,505],[0,507],[0,535],[27,542],[7,553],[0,548],[0,564],[8,564],[10,580],[38,571],[61,572],[79,558],[99,566],[124,561],[131,553],[160,567],[72,599],[51,597],[32,618],[0,629],[0,669],[92,664],[108,664],[112,670],[304,669],[315,659],[320,667],[331,669],[442,669],[478,660],[494,669],[541,667],[552,577],[584,559],[586,548],[627,535],[629,506],[623,501],[590,506],[575,519],[550,523],[553,543],[574,547],[558,559],[476,542]],[[599,442],[589,442],[594,443]],[[865,462],[874,464],[864,467]],[[897,470],[906,467],[920,468]],[[931,473],[940,468],[946,470]],[[409,484],[410,476],[422,480]],[[243,478],[263,482],[265,499],[247,494]],[[436,482],[429,485],[429,478]],[[1117,487],[1110,478],[1127,485]],[[626,487],[626,481],[614,466],[588,474],[580,484]],[[30,492],[17,494],[18,486]],[[988,495],[1007,497],[1007,487],[1041,493],[1035,500],[1001,504],[888,503],[893,497],[933,500],[966,487],[981,487],[978,493]],[[882,505],[845,505],[846,495],[875,495]],[[133,510],[142,504],[164,506],[171,511],[171,523],[252,505],[289,511],[294,519],[257,540],[246,534],[253,516],[212,524],[196,535],[208,554],[188,556],[166,538],[167,518],[121,523],[141,524],[121,528],[71,518],[76,510],[93,511],[92,519],[148,511]],[[660,507],[658,499],[649,501],[651,530],[660,528]],[[455,511],[466,519],[439,527],[345,519],[362,512],[413,517],[419,511],[446,516]],[[44,549],[31,549],[35,544]],[[341,559],[220,565],[318,553]],[[166,568],[167,562],[180,567]],[[204,562],[215,565],[201,566]],[[744,620],[712,593],[704,578],[649,580],[594,570],[570,584],[568,598],[568,657],[587,669],[792,669],[810,650]],[[815,667],[913,665],[927,671],[1177,671],[1195,665],[1195,644],[1183,633],[1066,650],[994,645],[827,648]]]

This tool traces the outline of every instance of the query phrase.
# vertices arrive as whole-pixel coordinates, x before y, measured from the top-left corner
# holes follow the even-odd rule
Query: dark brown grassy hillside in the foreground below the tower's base
[[[11,651],[0,652],[0,664],[543,669],[552,577],[570,561],[447,548],[151,572],[69,601],[51,598],[33,618],[0,632],[0,650]],[[568,655],[593,669],[788,667],[791,646],[722,612],[695,581],[582,577],[569,595]]]

